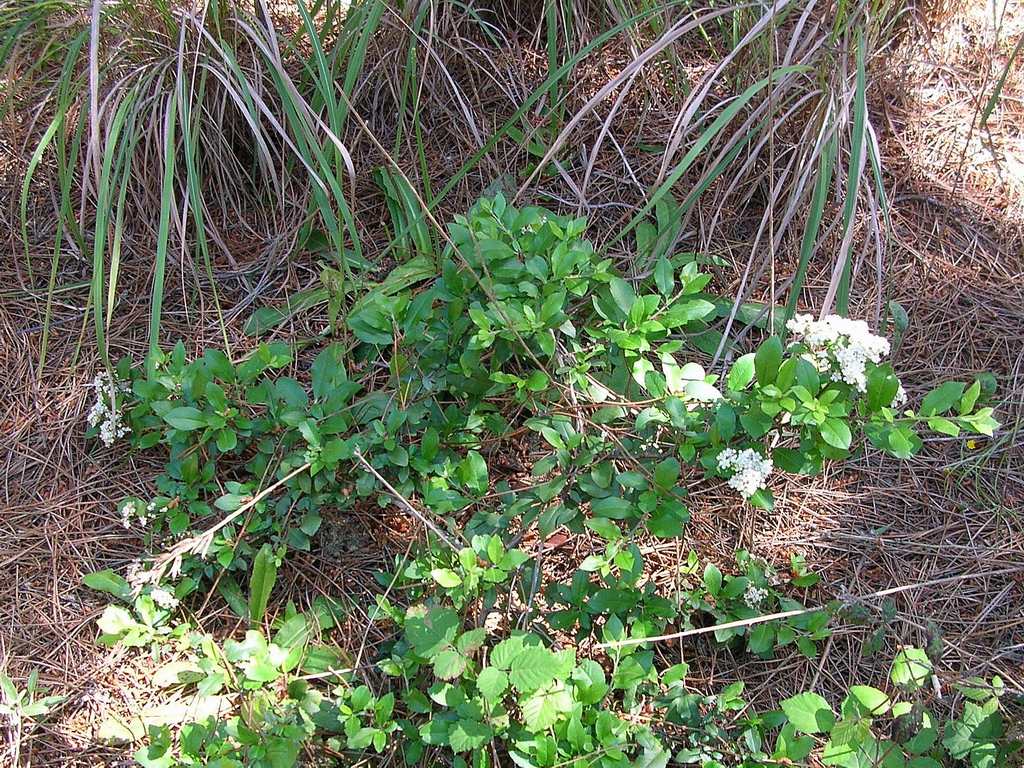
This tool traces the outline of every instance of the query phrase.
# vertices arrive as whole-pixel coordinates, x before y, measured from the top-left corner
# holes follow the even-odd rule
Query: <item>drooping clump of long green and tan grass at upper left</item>
[[[340,6],[333,7],[337,17]],[[4,50],[31,38],[47,58],[46,67],[30,68],[38,76],[36,92],[46,94],[37,110],[45,128],[20,195],[30,280],[28,198],[52,158],[60,225],[50,297],[69,247],[90,253],[89,303],[104,355],[129,227],[148,230],[154,244],[152,348],[168,261],[178,258],[182,267],[205,271],[215,290],[211,253],[219,250],[233,261],[225,228],[246,222],[240,212],[257,211],[257,223],[249,226],[265,219],[262,234],[271,243],[287,248],[292,239],[270,237],[272,230],[296,229],[305,220],[307,229],[328,232],[343,266],[346,251],[358,255],[351,190],[344,188],[354,167],[338,138],[345,102],[329,100],[325,84],[334,72],[319,47],[322,31],[301,6],[300,12],[304,26],[287,39],[262,2],[249,13],[233,3],[191,9],[40,1],[23,2],[0,17]],[[298,53],[303,34],[316,68],[313,87],[304,82],[306,62]],[[298,80],[288,56],[299,59]],[[266,257],[280,255],[271,248]],[[48,316],[45,325],[40,368]]]

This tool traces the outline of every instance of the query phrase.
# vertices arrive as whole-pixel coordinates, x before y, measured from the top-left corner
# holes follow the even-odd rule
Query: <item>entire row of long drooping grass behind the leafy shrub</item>
[[[556,171],[580,207],[588,207],[602,145],[618,147],[615,121],[633,103],[631,91],[658,68],[679,106],[658,139],[659,162],[638,180],[646,189],[643,203],[625,215],[604,248],[649,226],[652,214],[672,211],[643,234],[657,244],[657,253],[680,246],[691,225],[695,231],[687,245],[713,250],[729,212],[745,211],[757,224],[733,302],[723,310],[721,339],[737,321],[764,325],[769,314],[771,327],[784,325],[823,244],[835,254],[821,309],[845,313],[858,267],[873,256],[879,286],[884,270],[888,203],[867,109],[867,73],[898,15],[896,0],[871,9],[806,0],[757,8],[681,0],[587,8],[549,3],[534,15],[502,5],[444,4],[430,11],[381,0],[351,8],[325,0],[309,7],[298,2],[290,26],[279,30],[263,0],[253,12],[223,3],[193,9],[23,1],[0,16],[0,46],[44,51],[47,63],[30,69],[45,81],[48,94],[38,112],[46,127],[20,197],[23,239],[28,250],[29,189],[52,156],[61,225],[49,294],[69,247],[91,254],[89,301],[104,350],[123,243],[137,223],[152,228],[154,243],[153,349],[169,260],[197,274],[205,271],[215,286],[212,254],[233,263],[224,227],[237,225],[239,211],[258,211],[264,219],[261,234],[273,244],[267,267],[322,234],[342,281],[336,293],[346,295],[350,265],[366,263],[353,214],[362,169],[348,147],[371,130],[356,104],[360,89],[380,74],[375,45],[386,38],[389,50],[397,48],[391,154],[411,150],[406,157],[415,167],[386,158],[389,170],[378,176],[394,221],[390,245],[376,254],[378,260],[392,252],[399,258],[414,249],[429,252],[434,236],[426,222],[432,212],[471,174],[482,177],[488,165],[497,167],[490,161],[510,140],[519,145],[518,157],[535,159],[520,195],[542,174]],[[472,96],[479,94],[467,95],[465,78],[456,71],[455,58],[465,54],[469,38],[462,32],[452,36],[454,42],[442,38],[469,29],[482,41],[473,45],[509,47],[523,38],[529,19],[541,25],[527,37],[544,52],[546,76],[510,99],[510,111],[488,134],[474,109]],[[591,56],[623,40],[632,60],[573,105],[574,76]],[[705,66],[694,80],[695,56]],[[442,100],[450,103],[436,103]],[[444,178],[430,167],[422,119],[438,109],[458,116],[467,145],[475,147]],[[579,160],[566,158],[570,137],[599,109],[604,116],[589,147]],[[371,138],[364,143],[384,153]],[[421,216],[420,209],[429,215]],[[776,274],[778,253],[790,243],[799,244],[792,273]],[[654,258],[651,251],[632,272],[646,273]],[[31,263],[29,272],[35,280]],[[752,314],[745,302],[764,286],[768,302]],[[253,287],[236,311],[258,290]],[[881,289],[876,293],[881,312]],[[45,325],[41,366],[48,319]]]

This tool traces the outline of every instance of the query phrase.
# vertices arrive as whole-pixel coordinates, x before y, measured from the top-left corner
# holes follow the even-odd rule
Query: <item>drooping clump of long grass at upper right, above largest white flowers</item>
[[[580,172],[582,179],[577,179],[585,207],[601,144],[611,134],[627,92],[642,83],[651,68],[678,57],[682,46],[692,49],[694,40],[702,40],[708,60],[703,74],[696,82],[679,77],[672,81],[680,106],[665,136],[656,175],[645,203],[627,217],[611,245],[669,202],[678,218],[665,220],[655,232],[659,251],[674,248],[694,222],[693,245],[711,249],[727,211],[748,209],[758,223],[723,338],[766,272],[769,310],[775,311],[776,292],[788,291],[778,310],[780,322],[773,325],[792,317],[812,257],[834,233],[840,244],[821,312],[849,310],[855,267],[871,254],[881,311],[888,201],[868,113],[867,70],[887,49],[899,12],[899,3],[868,9],[864,4],[821,6],[788,0],[765,8],[687,7],[567,120],[520,194],[584,119],[617,93]],[[667,236],[671,242],[664,242]],[[775,267],[786,238],[799,242],[799,262],[783,281]],[[638,264],[636,272],[645,273],[650,266]]]

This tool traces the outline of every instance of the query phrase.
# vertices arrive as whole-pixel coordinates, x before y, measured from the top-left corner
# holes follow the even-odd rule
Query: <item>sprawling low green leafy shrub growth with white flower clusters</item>
[[[508,754],[538,768],[664,766],[673,750],[709,766],[793,763],[818,733],[860,744],[858,755],[904,749],[872,735],[856,693],[843,718],[809,730],[810,698],[755,715],[740,688],[709,697],[686,686],[685,667],[659,670],[646,638],[672,622],[729,624],[717,641],[764,657],[790,644],[813,656],[831,612],[803,610],[792,595],[817,579],[798,557],[782,579],[745,552],[726,573],[699,570],[691,555],[679,591],[666,594],[640,543],[683,535],[694,482],[722,478],[770,509],[776,469],[813,474],[861,435],[906,458],[924,427],[991,434],[984,381],[943,384],[907,409],[885,339],[860,322],[806,315],[790,323],[788,343],[770,336],[710,373],[687,358],[722,343],[725,310],[692,255],[660,253],[649,280],[630,283],[585,228],[480,201],[452,224],[433,283],[414,289],[399,275],[366,294],[345,318],[350,335],[308,374],[281,342],[238,360],[217,350],[188,360],[179,343],[144,369],[123,360],[97,379],[93,433],[167,456],[154,497],[121,508],[158,553],[127,579],[87,580],[122,601],[104,612],[101,640],[183,644],[199,676],[189,685],[248,702],[176,739],[158,728],[144,764],[278,768],[308,739],[326,739],[329,753],[400,751],[410,764],[484,766]],[[286,610],[270,639],[262,630],[288,550],[311,546],[323,510],[360,500],[398,503],[429,531],[379,577],[372,615],[394,629],[376,659],[390,681],[380,696],[338,658],[304,670],[319,620]],[[595,543],[566,582],[543,562],[558,528]],[[172,621],[178,601],[213,584],[251,623],[222,648]],[[592,639],[608,652],[582,656]],[[837,722],[851,732],[835,732]],[[836,764],[863,764],[853,761]]]

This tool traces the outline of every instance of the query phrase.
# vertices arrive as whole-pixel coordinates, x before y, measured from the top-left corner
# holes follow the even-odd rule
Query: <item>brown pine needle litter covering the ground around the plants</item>
[[[769,662],[736,657],[699,640],[684,647],[675,642],[662,646],[666,657],[685,657],[691,664],[693,685],[712,689],[742,678],[749,697],[765,706],[810,687],[840,695],[852,682],[883,677],[897,646],[924,647],[941,638],[937,693],[945,681],[994,674],[1011,690],[1024,692],[1024,439],[1018,432],[1024,407],[1024,198],[1019,172],[1024,163],[1019,143],[1024,90],[1011,78],[1005,89],[1006,110],[997,114],[997,122],[993,118],[980,130],[976,94],[991,83],[1005,59],[986,37],[984,17],[979,20],[974,9],[950,11],[939,24],[940,35],[924,38],[934,47],[921,47],[921,38],[912,37],[893,56],[892,71],[879,75],[882,85],[872,96],[876,112],[884,116],[877,124],[882,126],[893,189],[893,237],[883,287],[886,297],[897,300],[910,318],[894,359],[906,380],[920,388],[911,395],[943,380],[992,372],[1000,385],[998,412],[1005,429],[997,439],[977,446],[962,439],[934,439],[910,462],[886,462],[867,452],[811,481],[779,481],[772,512],[741,508],[734,495],[717,485],[694,488],[686,538],[644,552],[648,562],[663,565],[666,572],[691,548],[701,562],[711,559],[725,567],[734,550],[745,548],[779,565],[787,563],[791,554],[803,555],[823,575],[811,594],[819,603],[924,586],[891,596],[884,611],[885,649],[872,656],[864,654],[864,642],[879,628],[878,614],[863,626],[837,625],[813,662],[796,652]],[[950,30],[963,32],[956,36]],[[943,50],[940,45],[950,35],[971,45]],[[528,47],[496,50],[493,55],[498,76],[505,77],[510,88],[536,79],[536,72],[523,74],[519,68],[544,65],[543,52]],[[622,60],[611,56],[602,63],[604,72],[596,67],[589,73],[598,83]],[[443,180],[459,164],[461,144],[444,133],[447,111],[456,108],[438,101],[443,109],[431,115],[429,123],[436,136],[431,148],[438,155],[428,166]],[[474,106],[484,120],[484,100]],[[648,108],[643,130],[656,134],[672,116],[671,108],[664,114]],[[25,139],[23,125],[10,121],[3,137],[2,191],[10,200],[17,196],[25,168],[25,158],[14,150]],[[379,164],[369,142],[360,150],[367,168]],[[468,207],[494,179],[515,173],[521,163],[512,153],[496,153],[486,173],[467,178],[449,206],[455,211]],[[534,194],[550,204],[567,197],[560,184],[558,177],[545,179]],[[376,224],[385,219],[383,201],[371,183],[365,188],[360,184],[359,191],[355,213],[371,250],[374,243],[388,239]],[[601,172],[599,166],[588,211],[594,237],[599,240],[602,221],[615,218],[635,198],[635,190],[623,193],[614,171]],[[40,205],[39,210],[46,209]],[[104,450],[84,439],[85,414],[93,396],[86,385],[99,367],[88,331],[85,343],[78,345],[83,327],[88,328],[82,311],[86,289],[56,297],[50,362],[39,375],[45,301],[17,288],[25,280],[16,258],[20,244],[14,233],[19,226],[13,206],[5,214],[10,218],[3,228],[11,237],[8,256],[0,263],[0,668],[15,680],[38,669],[45,687],[68,695],[31,734],[11,731],[6,736],[9,744],[20,738],[22,760],[36,766],[127,764],[125,751],[104,745],[98,730],[111,714],[124,716],[159,700],[150,682],[153,669],[144,654],[111,653],[96,646],[95,621],[106,601],[85,589],[82,577],[104,567],[123,570],[137,555],[141,539],[121,526],[117,507],[126,496],[146,497],[159,467],[144,455],[128,456],[120,447]],[[43,243],[52,221],[40,213],[32,225],[39,248],[35,255],[46,268]],[[731,234],[741,265],[749,229],[740,222]],[[253,281],[241,280],[240,270],[259,266],[247,261],[245,237],[240,233],[232,243],[238,264],[218,265],[220,300],[229,313],[232,305],[241,308],[227,328],[238,349],[253,343],[242,332]],[[141,252],[147,246],[129,242],[126,252],[134,248]],[[251,248],[257,252],[256,245]],[[785,265],[777,268],[781,272]],[[827,285],[829,265],[814,268],[805,297],[812,306]],[[68,270],[62,284],[87,280],[85,264]],[[146,258],[126,259],[122,303],[109,333],[118,354],[136,359],[146,347],[150,270]],[[281,264],[256,281],[259,300],[281,298],[308,285],[315,274],[311,258]],[[717,288],[725,294],[737,280],[738,269],[723,267],[716,274]],[[858,304],[869,312],[877,288],[872,281],[861,282]],[[217,346],[220,330],[210,297],[197,306],[184,303],[181,296],[177,286],[169,287],[163,337],[185,339],[189,353]],[[324,324],[323,314],[302,313],[279,335],[308,337]],[[505,459],[513,473],[522,457]],[[380,630],[369,624],[360,607],[376,590],[373,571],[406,552],[419,528],[399,509],[329,517],[312,551],[293,553],[283,568],[281,603],[293,599],[304,606],[317,595],[348,596],[351,612],[333,639],[353,654],[373,648],[382,639]],[[570,571],[600,545],[578,537],[547,546],[548,567]],[[225,635],[240,626],[216,599],[202,607],[196,621]]]

